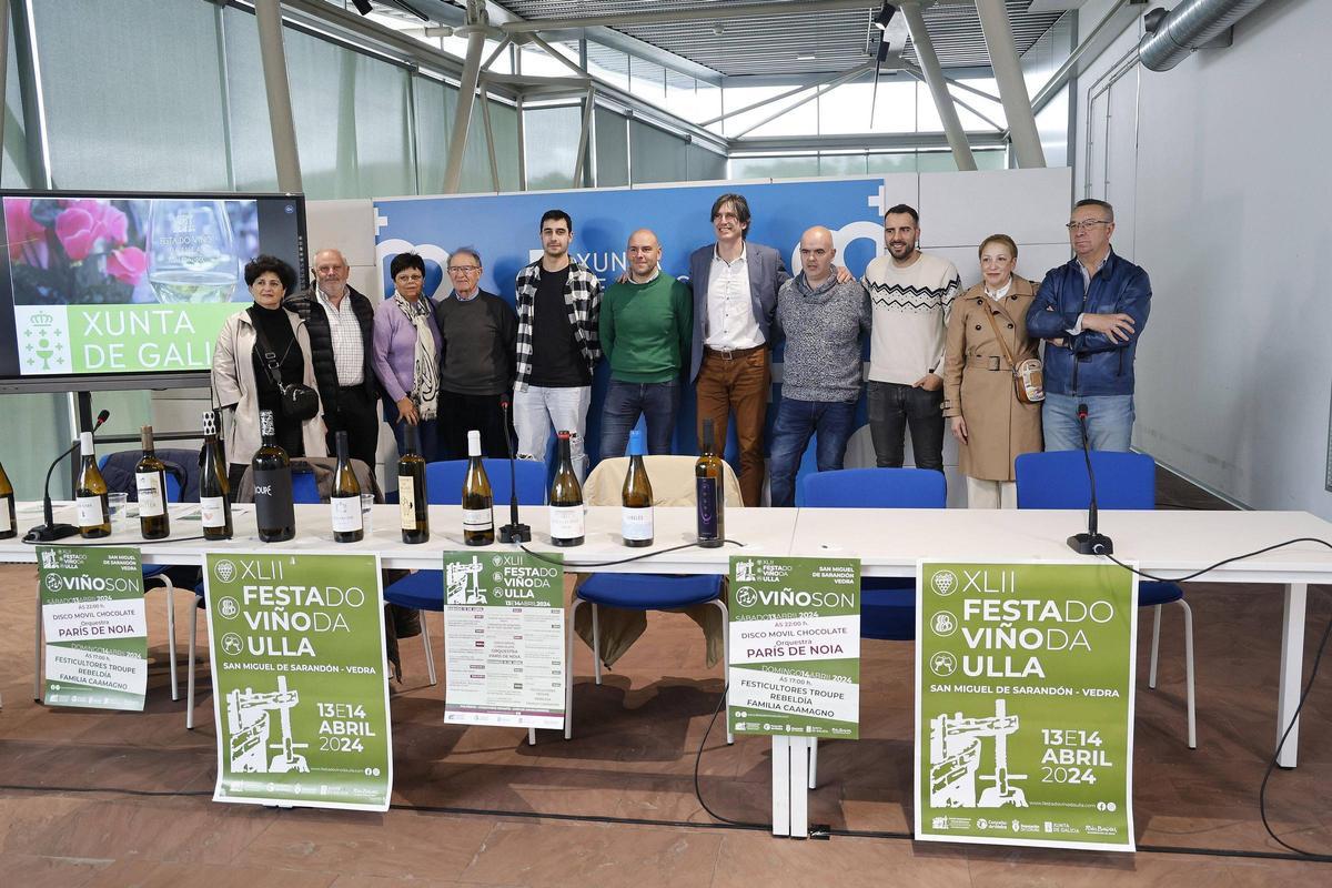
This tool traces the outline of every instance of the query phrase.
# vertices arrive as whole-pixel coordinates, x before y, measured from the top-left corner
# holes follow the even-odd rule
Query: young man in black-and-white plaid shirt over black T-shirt
[[[542,256],[518,272],[513,425],[519,459],[545,461],[551,426],[569,431],[574,473],[582,481],[591,374],[601,359],[602,288],[591,269],[569,257],[573,237],[569,213],[546,210],[541,217]]]

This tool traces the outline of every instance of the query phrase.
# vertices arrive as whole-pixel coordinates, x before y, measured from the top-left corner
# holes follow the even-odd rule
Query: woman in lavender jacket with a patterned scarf
[[[421,455],[434,459],[440,397],[440,330],[430,301],[422,297],[425,262],[398,253],[389,265],[393,292],[374,309],[374,375],[384,390],[384,418],[393,427],[398,453],[406,426],[417,426]]]

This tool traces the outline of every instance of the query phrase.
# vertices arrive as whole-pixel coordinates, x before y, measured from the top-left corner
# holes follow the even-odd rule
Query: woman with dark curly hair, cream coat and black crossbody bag
[[[305,422],[282,414],[281,391],[265,366],[258,333],[262,332],[278,363],[282,385],[305,385],[317,391],[310,362],[310,337],[300,316],[282,308],[282,297],[296,286],[296,270],[272,256],[245,265],[245,284],[254,302],[226,318],[213,349],[213,391],[218,406],[232,409],[226,454],[232,497],[245,466],[260,446],[260,410],[272,410],[277,442],[290,457],[326,457],[324,405]]]

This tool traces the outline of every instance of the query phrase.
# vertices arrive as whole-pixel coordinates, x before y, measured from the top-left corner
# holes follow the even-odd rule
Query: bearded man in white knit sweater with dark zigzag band
[[[903,461],[903,426],[918,469],[943,471],[943,339],[960,289],[958,269],[922,253],[920,214],[898,204],[883,216],[887,256],[860,282],[870,293],[870,437],[879,467]]]

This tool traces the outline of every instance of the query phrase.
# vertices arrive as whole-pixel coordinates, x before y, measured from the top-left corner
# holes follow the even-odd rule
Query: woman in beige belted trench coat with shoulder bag
[[[1035,289],[1012,273],[1018,245],[1007,234],[991,234],[979,253],[984,280],[958,297],[948,318],[943,415],[952,418],[958,438],[967,506],[1014,509],[1018,493],[1012,461],[1018,454],[1040,450],[1040,405],[1018,401],[1012,366],[995,338],[995,326],[1015,361],[1038,357],[1040,341],[1027,335],[1027,309]],[[995,324],[990,324],[987,313]]]

